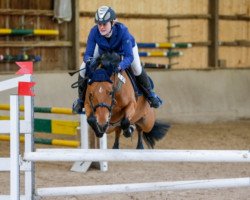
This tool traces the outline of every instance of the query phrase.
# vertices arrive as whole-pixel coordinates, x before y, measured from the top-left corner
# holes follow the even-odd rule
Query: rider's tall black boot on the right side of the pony
[[[136,80],[150,106],[158,108],[162,104],[162,100],[152,91],[149,77],[144,68],[142,68],[142,73],[136,76]]]

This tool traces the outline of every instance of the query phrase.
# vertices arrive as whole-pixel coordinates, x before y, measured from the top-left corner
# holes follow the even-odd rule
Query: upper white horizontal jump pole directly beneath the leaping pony
[[[249,150],[37,149],[26,161],[250,162]]]

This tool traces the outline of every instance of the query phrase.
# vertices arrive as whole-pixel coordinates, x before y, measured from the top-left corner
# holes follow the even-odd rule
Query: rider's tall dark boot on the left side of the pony
[[[72,110],[73,113],[80,114],[84,107],[85,93],[87,90],[88,79],[84,79],[80,74],[78,76],[78,99],[74,101]]]

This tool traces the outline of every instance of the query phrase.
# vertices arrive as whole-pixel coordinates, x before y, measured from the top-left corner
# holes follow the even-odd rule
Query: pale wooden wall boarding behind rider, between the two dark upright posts
[[[137,42],[168,42],[169,36],[173,37],[172,42],[205,42],[207,41],[208,22],[207,20],[171,20],[170,25],[178,25],[179,27],[172,28],[168,35],[168,20],[166,19],[127,19],[119,17],[119,13],[130,14],[207,14],[208,0],[164,0],[150,1],[140,0],[80,0],[80,11],[95,12],[101,5],[109,5],[118,13],[118,21],[124,23],[135,36]],[[93,17],[80,18],[80,41],[86,43],[89,30],[94,25]],[[195,34],[194,34],[195,33]],[[177,49],[178,51],[180,49]],[[81,48],[84,51],[84,48]],[[140,51],[167,51],[167,49],[140,49]],[[184,56],[172,59],[178,62],[178,65],[173,65],[172,68],[199,68],[207,66],[206,48],[192,48],[183,50]],[[199,55],[200,59],[190,59],[192,53]],[[201,53],[202,52],[202,53]],[[188,55],[188,56],[187,56]],[[80,58],[81,60],[81,58]],[[169,64],[169,59],[166,57],[142,57],[143,62]],[[194,62],[195,61],[195,62]]]

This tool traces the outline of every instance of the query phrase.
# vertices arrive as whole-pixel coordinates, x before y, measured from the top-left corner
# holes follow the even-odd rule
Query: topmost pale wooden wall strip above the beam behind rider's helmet
[[[204,14],[208,0],[80,0],[80,11],[96,11],[108,5],[117,12],[147,14]]]

